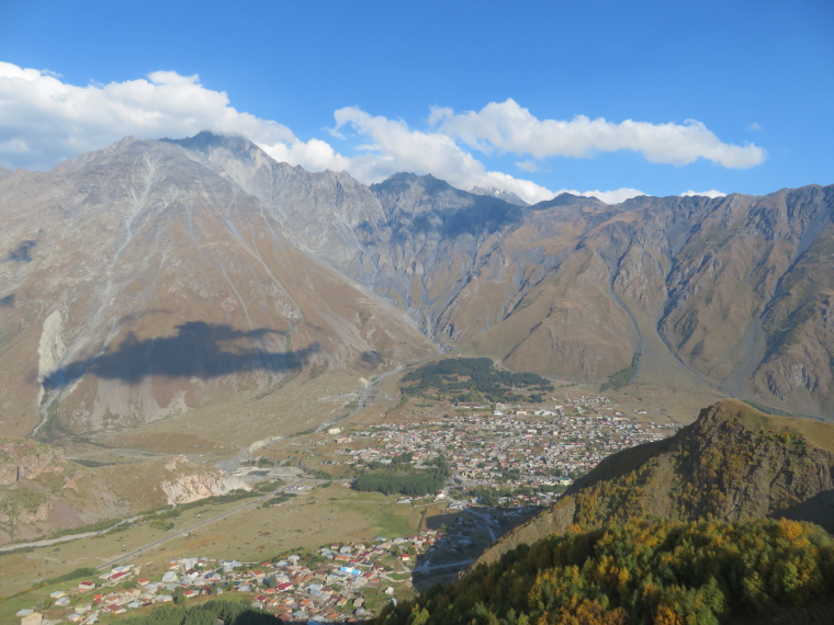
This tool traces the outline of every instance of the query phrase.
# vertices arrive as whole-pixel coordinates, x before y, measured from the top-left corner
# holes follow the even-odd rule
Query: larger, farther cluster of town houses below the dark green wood
[[[381,423],[349,435],[339,432],[334,443],[337,454],[348,456],[347,465],[386,464],[408,452],[419,467],[442,455],[460,485],[521,488],[567,486],[606,456],[664,439],[674,429],[636,422],[606,397],[583,397],[567,406],[498,405],[419,423]],[[543,493],[529,503],[553,497]]]

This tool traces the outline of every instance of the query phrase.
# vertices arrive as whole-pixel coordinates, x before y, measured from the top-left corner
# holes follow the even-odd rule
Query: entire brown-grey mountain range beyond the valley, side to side
[[[369,186],[211,133],[2,171],[0,428],[193,421],[250,444],[449,350],[831,414],[834,186],[533,206],[475,191]]]

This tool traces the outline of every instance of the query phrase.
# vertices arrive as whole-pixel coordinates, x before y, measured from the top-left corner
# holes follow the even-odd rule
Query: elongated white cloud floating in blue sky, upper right
[[[688,164],[705,158],[726,168],[748,168],[765,159],[765,150],[748,144],[722,143],[702,123],[619,124],[577,115],[571,121],[539,120],[515,100],[491,102],[481,111],[454,113],[435,109],[429,122],[439,133],[455,137],[484,154],[494,150],[531,155],[588,157],[600,151],[633,150],[652,162]]]

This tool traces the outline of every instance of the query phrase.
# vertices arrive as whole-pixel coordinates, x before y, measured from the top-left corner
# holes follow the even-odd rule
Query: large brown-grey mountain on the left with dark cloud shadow
[[[212,397],[235,401],[229,388],[257,394],[311,367],[356,379],[433,353],[238,184],[280,172],[274,161],[230,156],[260,151],[239,138],[192,143],[122,141],[0,179],[0,346],[14,353],[0,377],[18,389],[8,433],[105,432],[211,410]]]

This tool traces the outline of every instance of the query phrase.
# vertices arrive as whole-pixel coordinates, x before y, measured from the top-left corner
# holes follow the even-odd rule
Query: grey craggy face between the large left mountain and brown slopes
[[[239,137],[172,141],[267,205],[294,243],[395,304],[439,342],[438,319],[477,265],[520,221],[515,203],[397,173],[365,186],[347,173],[272,161]]]

